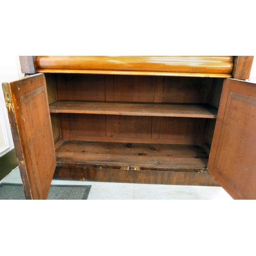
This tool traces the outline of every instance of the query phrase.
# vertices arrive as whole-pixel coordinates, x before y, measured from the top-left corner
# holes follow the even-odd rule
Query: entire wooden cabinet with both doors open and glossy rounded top
[[[29,76],[3,88],[27,199],[45,199],[53,177],[220,184],[256,198],[256,87],[229,79],[248,78],[252,57],[20,62]]]

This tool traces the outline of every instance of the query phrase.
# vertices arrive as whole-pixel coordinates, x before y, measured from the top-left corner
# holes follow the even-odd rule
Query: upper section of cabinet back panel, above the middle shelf
[[[216,78],[57,74],[58,100],[212,103]]]

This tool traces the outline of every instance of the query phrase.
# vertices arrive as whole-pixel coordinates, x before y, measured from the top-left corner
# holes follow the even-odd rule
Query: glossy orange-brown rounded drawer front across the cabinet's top
[[[232,56],[37,56],[43,70],[155,71],[230,74]]]

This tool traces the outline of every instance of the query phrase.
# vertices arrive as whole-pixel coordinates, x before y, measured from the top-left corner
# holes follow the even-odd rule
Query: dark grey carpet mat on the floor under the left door
[[[48,200],[86,200],[91,185],[51,185]],[[22,184],[1,183],[0,200],[25,200]]]

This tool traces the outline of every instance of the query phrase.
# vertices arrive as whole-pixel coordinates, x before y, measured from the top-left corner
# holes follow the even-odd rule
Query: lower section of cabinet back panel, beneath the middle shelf
[[[60,114],[65,140],[126,141],[197,144],[205,118]]]

